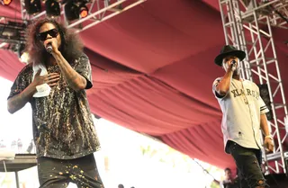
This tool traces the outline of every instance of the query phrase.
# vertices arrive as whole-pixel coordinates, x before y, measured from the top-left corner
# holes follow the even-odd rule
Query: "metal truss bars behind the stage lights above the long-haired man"
[[[24,0],[21,0],[22,18],[23,20],[34,20],[40,17],[45,17],[46,11],[30,15],[24,8]],[[66,24],[67,28],[73,28],[76,32],[85,31],[94,25],[104,22],[113,16],[123,13],[130,8],[144,3],[146,0],[90,0],[86,4],[89,9],[88,15],[85,18],[79,18],[76,21],[69,22],[65,14],[65,5],[60,4],[60,16],[56,17],[59,21]]]

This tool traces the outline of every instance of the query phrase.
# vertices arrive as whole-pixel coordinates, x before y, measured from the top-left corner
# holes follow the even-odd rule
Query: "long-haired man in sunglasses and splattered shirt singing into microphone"
[[[40,187],[72,182],[103,188],[94,160],[100,144],[85,94],[93,85],[91,65],[81,41],[45,18],[31,23],[26,47],[31,63],[16,77],[7,103],[11,113],[31,103]]]

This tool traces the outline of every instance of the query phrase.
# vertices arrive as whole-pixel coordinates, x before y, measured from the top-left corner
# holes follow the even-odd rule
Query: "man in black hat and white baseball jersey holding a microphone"
[[[225,152],[234,158],[241,175],[250,188],[266,187],[261,171],[261,130],[266,135],[266,150],[274,149],[269,133],[266,104],[259,94],[258,86],[240,78],[239,62],[246,53],[233,46],[224,46],[214,61],[223,67],[225,75],[215,79],[212,90],[223,113],[221,129]]]

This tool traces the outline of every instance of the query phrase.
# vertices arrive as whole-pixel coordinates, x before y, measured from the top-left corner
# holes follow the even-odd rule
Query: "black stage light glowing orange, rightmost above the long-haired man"
[[[65,4],[65,16],[68,21],[85,18],[88,15],[88,8],[85,6],[87,1],[67,1]]]

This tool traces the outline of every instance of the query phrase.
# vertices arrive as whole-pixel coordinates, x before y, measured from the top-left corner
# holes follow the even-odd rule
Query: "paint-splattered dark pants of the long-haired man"
[[[66,188],[71,182],[78,188],[103,188],[94,155],[76,159],[39,157],[38,175],[40,188]]]

